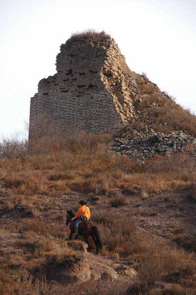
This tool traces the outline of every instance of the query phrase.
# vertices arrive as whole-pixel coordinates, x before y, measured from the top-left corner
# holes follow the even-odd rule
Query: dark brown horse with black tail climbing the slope
[[[67,210],[65,224],[69,225],[69,227],[70,227],[70,235],[68,237],[70,240],[71,240],[72,235],[75,233],[74,223],[75,223],[76,219],[71,220],[71,218],[73,218],[74,216],[75,216],[75,213],[73,213],[71,210]],[[96,254],[98,254],[98,252],[102,249],[103,244],[102,244],[99,232],[98,232],[98,228],[97,228],[97,226],[94,226],[91,223],[91,221],[82,221],[79,223],[78,235],[80,235],[84,238],[84,241],[88,244],[88,246],[89,246],[88,237],[89,236],[92,237],[92,239],[96,245]],[[75,236],[75,239],[77,239],[77,238],[78,238],[78,236]]]

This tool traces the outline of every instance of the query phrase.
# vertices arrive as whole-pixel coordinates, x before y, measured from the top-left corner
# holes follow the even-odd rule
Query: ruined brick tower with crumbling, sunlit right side
[[[57,55],[57,73],[31,98],[29,139],[67,130],[98,133],[129,123],[140,89],[114,39],[70,38]]]

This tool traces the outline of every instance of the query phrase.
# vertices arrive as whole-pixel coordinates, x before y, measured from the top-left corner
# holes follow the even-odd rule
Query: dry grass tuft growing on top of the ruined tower
[[[102,30],[101,32],[96,32],[95,29],[86,29],[82,32],[72,33],[69,40],[77,41],[87,38],[92,38],[94,41],[99,41],[100,38],[109,39],[110,35],[106,34],[104,30]]]

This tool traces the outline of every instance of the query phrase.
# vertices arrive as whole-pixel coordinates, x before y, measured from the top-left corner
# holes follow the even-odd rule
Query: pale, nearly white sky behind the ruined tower
[[[105,30],[128,66],[196,113],[196,0],[1,0],[0,138],[23,132],[71,33]]]

